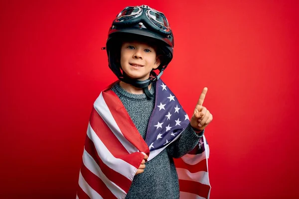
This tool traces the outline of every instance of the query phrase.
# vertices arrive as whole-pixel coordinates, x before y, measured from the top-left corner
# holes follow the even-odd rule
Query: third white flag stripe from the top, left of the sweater
[[[107,186],[107,188],[112,192],[112,194],[117,197],[121,198],[126,193],[124,190],[122,190],[119,186],[117,186],[114,182],[110,181],[105,174],[102,172],[99,165],[96,163],[96,161],[91,157],[90,154],[84,149],[83,152],[83,164],[85,167],[91,171],[94,175],[99,177]]]

